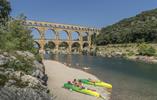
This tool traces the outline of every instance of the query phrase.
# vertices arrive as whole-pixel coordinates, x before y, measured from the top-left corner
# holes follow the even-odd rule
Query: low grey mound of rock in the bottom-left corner
[[[0,88],[0,100],[52,100],[47,93],[31,88]]]

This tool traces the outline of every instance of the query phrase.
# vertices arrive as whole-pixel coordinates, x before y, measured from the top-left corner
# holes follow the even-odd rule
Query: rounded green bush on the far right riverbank
[[[156,53],[156,50],[147,44],[140,44],[138,49],[139,55],[147,55],[147,56],[154,56]]]

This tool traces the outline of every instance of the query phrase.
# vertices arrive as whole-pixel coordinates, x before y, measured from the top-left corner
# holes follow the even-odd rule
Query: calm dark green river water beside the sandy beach
[[[157,100],[157,64],[83,55],[51,55],[113,85],[112,100]]]

